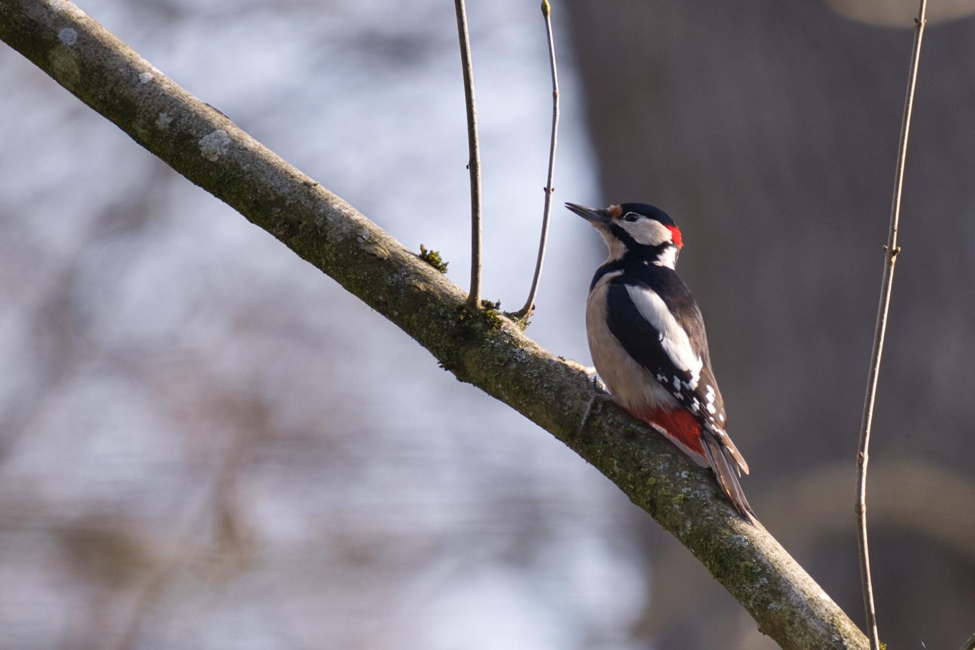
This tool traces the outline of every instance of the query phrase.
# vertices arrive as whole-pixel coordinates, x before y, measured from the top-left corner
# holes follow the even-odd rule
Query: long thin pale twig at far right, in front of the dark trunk
[[[874,350],[870,359],[867,378],[867,396],[863,404],[863,420],[860,423],[860,448],[857,453],[856,518],[857,546],[860,549],[860,578],[863,583],[863,605],[867,613],[867,636],[872,650],[878,650],[877,610],[874,608],[874,586],[870,578],[870,553],[867,544],[867,450],[870,446],[870,429],[874,421],[874,402],[877,398],[877,380],[880,356],[883,353],[883,337],[887,330],[887,311],[890,308],[890,287],[894,279],[894,263],[901,249],[897,246],[897,225],[901,215],[901,189],[904,186],[904,164],[908,155],[908,133],[911,130],[911,110],[914,107],[917,83],[917,60],[920,58],[920,42],[924,35],[924,14],[927,0],[920,0],[915,19],[914,50],[911,55],[911,72],[908,77],[907,96],[904,99],[904,118],[901,122],[901,142],[897,150],[897,170],[894,173],[894,197],[890,206],[890,230],[884,250],[883,280],[880,285],[880,304],[877,326],[874,330]]]

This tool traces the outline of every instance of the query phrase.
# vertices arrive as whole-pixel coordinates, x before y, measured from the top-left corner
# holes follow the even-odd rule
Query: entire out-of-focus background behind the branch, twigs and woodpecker
[[[164,73],[466,286],[448,2],[85,0]],[[485,293],[525,299],[537,3],[468,8]],[[557,202],[687,243],[769,530],[863,620],[853,485],[914,2],[554,2]],[[881,638],[975,631],[975,12],[932,4],[868,504]],[[544,431],[0,46],[5,650],[771,648]],[[556,209],[528,334],[589,363],[604,256]]]

